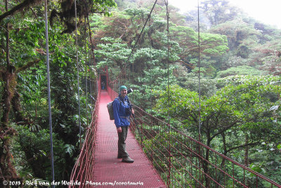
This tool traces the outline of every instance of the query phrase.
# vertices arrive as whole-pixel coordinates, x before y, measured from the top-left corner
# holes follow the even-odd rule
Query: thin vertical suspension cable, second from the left
[[[76,62],[77,62],[77,88],[78,88],[78,110],[79,110],[79,135],[80,135],[80,149],[81,149],[81,116],[80,116],[80,88],[79,88],[79,62],[78,62],[78,36],[77,36],[77,8],[76,0],[74,1],[75,10],[75,41],[76,41]]]

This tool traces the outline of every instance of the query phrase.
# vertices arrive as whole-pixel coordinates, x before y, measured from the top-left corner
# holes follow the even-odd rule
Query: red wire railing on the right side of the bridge
[[[133,106],[131,130],[167,187],[281,187]]]

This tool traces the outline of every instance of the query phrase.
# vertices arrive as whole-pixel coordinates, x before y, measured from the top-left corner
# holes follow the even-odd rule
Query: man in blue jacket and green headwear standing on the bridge
[[[126,86],[120,86],[119,96],[113,102],[113,115],[115,117],[115,126],[118,133],[118,159],[124,163],[133,163],[133,159],[126,152],[126,137],[130,126],[130,116],[134,114],[127,95]]]

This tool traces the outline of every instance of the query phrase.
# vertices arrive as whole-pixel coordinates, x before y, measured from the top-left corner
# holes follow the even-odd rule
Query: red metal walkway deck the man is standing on
[[[102,90],[98,111],[94,182],[110,182],[118,187],[166,187],[130,130],[126,139],[126,150],[135,161],[122,163],[122,159],[117,159],[117,130],[114,121],[109,119],[106,107],[110,101],[110,96]],[[139,185],[130,186],[128,183]],[[121,184],[124,186],[120,186]]]

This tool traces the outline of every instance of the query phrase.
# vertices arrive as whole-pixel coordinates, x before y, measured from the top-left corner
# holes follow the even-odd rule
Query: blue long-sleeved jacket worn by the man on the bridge
[[[115,98],[115,100],[113,101],[113,115],[115,117],[115,126],[117,128],[121,126],[129,126],[130,114],[126,114],[126,111],[130,112],[128,96],[125,96],[124,100],[122,100],[120,95],[118,98]]]

